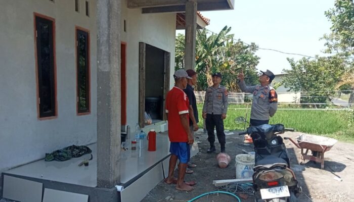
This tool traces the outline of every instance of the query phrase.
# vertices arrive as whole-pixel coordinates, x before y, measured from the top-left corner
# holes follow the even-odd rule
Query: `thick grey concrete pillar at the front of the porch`
[[[120,182],[121,0],[97,1],[97,186]]]

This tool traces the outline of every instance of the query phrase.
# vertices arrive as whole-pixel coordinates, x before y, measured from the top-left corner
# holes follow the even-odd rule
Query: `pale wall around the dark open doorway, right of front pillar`
[[[170,88],[173,86],[175,50],[175,13],[142,14],[141,9],[127,9],[122,2],[122,22],[126,32],[121,40],[126,42],[127,125],[134,132],[139,118],[139,42],[145,42],[170,53]],[[153,78],[146,78],[153,79]]]

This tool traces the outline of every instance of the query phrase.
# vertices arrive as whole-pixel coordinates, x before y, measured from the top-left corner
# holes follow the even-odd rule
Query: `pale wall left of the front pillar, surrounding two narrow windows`
[[[0,1],[0,173],[70,144],[97,141],[96,1]],[[38,120],[33,12],[55,19],[58,117]],[[75,26],[90,30],[91,114],[76,115]]]

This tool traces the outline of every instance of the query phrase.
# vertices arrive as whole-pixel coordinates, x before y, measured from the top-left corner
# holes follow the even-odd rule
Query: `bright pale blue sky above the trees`
[[[277,49],[287,53],[307,56],[324,55],[324,41],[330,33],[331,23],[324,12],[334,8],[334,0],[235,0],[235,10],[201,12],[210,19],[206,28],[219,32],[225,25],[231,33],[246,43],[255,42],[259,47]],[[259,50],[261,59],[258,70],[269,69],[280,74],[289,69],[286,58],[298,60],[301,56],[285,55]]]

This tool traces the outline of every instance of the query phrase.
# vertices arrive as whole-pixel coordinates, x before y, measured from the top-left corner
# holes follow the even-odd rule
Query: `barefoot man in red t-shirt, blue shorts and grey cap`
[[[187,87],[187,72],[183,69],[177,70],[173,74],[175,85],[166,96],[166,115],[168,120],[168,138],[170,141],[170,153],[168,166],[167,184],[176,183],[176,189],[183,191],[193,190],[194,182],[184,182],[187,163],[190,159],[190,144],[194,138],[189,128],[189,100],[183,91]],[[178,178],[173,176],[177,160]]]

